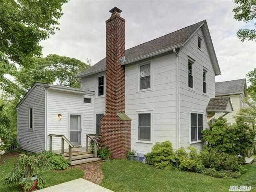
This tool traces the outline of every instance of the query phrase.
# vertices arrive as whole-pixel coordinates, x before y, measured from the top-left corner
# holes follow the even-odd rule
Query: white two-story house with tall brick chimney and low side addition
[[[85,146],[85,134],[100,133],[114,158],[166,140],[201,149],[206,107],[232,112],[229,99],[214,99],[221,73],[206,20],[125,50],[122,11],[110,12],[106,58],[78,76],[81,90],[36,83],[18,105],[21,148],[48,150],[50,133]]]

